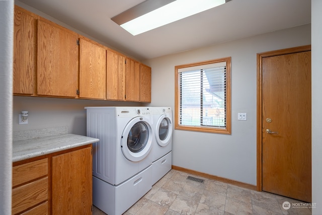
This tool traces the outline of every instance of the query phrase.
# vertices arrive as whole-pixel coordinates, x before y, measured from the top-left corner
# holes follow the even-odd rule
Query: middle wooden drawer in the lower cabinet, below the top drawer
[[[12,190],[12,213],[16,214],[48,199],[48,177]]]

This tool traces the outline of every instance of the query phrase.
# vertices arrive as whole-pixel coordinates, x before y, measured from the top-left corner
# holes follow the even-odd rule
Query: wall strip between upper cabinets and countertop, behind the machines
[[[86,135],[87,106],[143,106],[145,103],[14,96],[13,131],[67,126],[68,133]],[[28,110],[28,124],[19,113]]]

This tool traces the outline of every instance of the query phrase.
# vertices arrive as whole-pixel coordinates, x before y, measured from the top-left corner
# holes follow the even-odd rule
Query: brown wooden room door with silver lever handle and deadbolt
[[[311,201],[311,53],[262,58],[263,190]]]

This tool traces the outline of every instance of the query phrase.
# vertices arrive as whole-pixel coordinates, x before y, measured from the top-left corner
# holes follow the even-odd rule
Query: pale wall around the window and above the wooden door
[[[310,38],[310,25],[304,25],[146,60],[151,106],[174,110],[175,65],[231,56],[231,135],[174,130],[173,165],[256,185],[256,54],[308,45]],[[246,112],[247,121],[238,121],[238,112]]]

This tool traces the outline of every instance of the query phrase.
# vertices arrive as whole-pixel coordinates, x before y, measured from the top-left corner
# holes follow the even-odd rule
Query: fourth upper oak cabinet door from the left
[[[125,100],[125,56],[107,50],[106,99]]]

